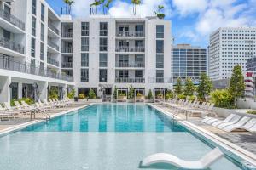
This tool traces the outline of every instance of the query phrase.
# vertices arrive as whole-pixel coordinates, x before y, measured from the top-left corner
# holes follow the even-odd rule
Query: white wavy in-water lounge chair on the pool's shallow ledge
[[[171,154],[158,153],[143,159],[142,166],[148,167],[155,163],[167,163],[183,169],[206,169],[207,167],[210,167],[212,163],[218,161],[223,156],[223,152],[218,148],[210,151],[209,153],[207,153],[206,156],[203,156],[198,161],[185,161]]]

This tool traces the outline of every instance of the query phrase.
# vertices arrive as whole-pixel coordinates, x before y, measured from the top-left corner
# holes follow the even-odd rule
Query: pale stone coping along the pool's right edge
[[[166,116],[172,116],[172,115],[170,115],[170,114],[172,114],[171,112],[165,111],[165,110],[161,109],[159,106],[156,106],[153,104],[147,104],[147,105],[150,105],[154,109],[164,113]],[[253,166],[256,166],[256,159],[255,159],[256,155],[253,154],[252,152],[245,150],[245,149],[241,148],[240,146],[233,144],[230,141],[223,139],[223,138],[219,137],[218,135],[216,135],[202,127],[199,127],[191,122],[188,122],[188,121],[179,121],[179,122],[183,126],[189,127],[190,129],[194,130],[196,133],[200,133],[205,138],[210,139],[210,140],[212,140],[212,142],[224,147],[224,149],[229,150],[231,153],[234,153],[236,156],[240,156],[241,159],[243,159],[244,161],[248,161],[248,162],[252,163]]]

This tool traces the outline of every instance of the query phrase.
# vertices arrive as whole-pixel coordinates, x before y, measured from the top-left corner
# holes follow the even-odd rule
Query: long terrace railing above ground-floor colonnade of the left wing
[[[60,79],[68,82],[73,82],[73,77],[67,75],[61,75],[60,73],[55,73],[38,66],[34,66],[27,63],[20,63],[12,59],[4,57],[3,54],[0,55],[0,69],[5,69],[9,71],[18,71],[26,74],[32,74],[42,77],[51,77],[55,79]]]

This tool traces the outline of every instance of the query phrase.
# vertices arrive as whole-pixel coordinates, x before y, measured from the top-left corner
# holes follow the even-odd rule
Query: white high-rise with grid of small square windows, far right
[[[208,72],[212,80],[231,77],[233,67],[247,71],[247,59],[256,53],[255,27],[226,27],[210,35]]]

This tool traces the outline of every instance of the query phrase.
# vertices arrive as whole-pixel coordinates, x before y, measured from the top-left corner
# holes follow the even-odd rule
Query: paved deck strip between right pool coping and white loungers
[[[159,104],[155,104],[155,105],[159,106],[160,108],[164,109],[165,111],[169,111],[171,113],[173,112],[172,110],[170,110],[170,108],[168,108],[166,106],[159,105]],[[178,116],[182,120],[185,120],[185,116],[183,116],[182,114],[180,114]],[[190,122],[192,122],[193,124],[195,124],[199,127],[204,128],[212,133],[215,133],[219,137],[226,139],[226,140],[230,141],[231,143],[236,144],[236,145],[240,146],[241,148],[252,152],[253,154],[256,154],[256,133],[248,133],[248,132],[227,133],[227,132],[224,132],[216,127],[212,127],[210,125],[207,125],[206,123],[201,122],[200,117],[191,117]]]

